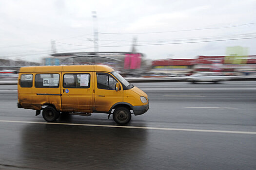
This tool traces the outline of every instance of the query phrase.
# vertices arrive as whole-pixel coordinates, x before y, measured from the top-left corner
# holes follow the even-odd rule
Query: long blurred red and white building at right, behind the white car
[[[236,60],[241,62],[234,64]],[[256,71],[256,55],[198,56],[195,59],[164,59],[152,61],[152,72],[160,74],[191,74],[192,72],[236,72],[250,74]]]

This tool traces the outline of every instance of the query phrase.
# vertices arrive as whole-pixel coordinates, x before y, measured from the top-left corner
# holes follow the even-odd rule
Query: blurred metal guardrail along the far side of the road
[[[227,81],[256,81],[256,76],[227,76]],[[186,82],[186,77],[147,77],[147,78],[126,78],[130,83],[150,82]],[[17,85],[17,80],[0,81],[0,85]]]

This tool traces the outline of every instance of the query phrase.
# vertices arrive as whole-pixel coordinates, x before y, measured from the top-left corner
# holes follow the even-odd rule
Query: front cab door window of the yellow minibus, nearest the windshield
[[[104,73],[97,73],[97,87],[105,90],[115,90],[116,79]]]

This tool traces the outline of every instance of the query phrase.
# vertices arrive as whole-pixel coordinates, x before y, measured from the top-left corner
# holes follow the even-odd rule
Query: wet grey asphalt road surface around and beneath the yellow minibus
[[[256,169],[255,81],[134,85],[150,108],[126,126],[100,113],[46,123],[0,85],[0,169]]]

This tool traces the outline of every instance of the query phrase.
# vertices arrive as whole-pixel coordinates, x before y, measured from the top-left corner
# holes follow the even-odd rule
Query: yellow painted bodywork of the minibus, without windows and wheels
[[[102,65],[78,66],[39,66],[20,68],[18,83],[18,102],[22,108],[40,110],[44,104],[52,104],[58,111],[72,112],[104,112],[109,113],[117,103],[127,103],[130,106],[142,106],[140,96],[148,98],[138,87],[123,89],[121,82],[111,72],[114,69]],[[98,89],[97,73],[111,75],[120,83],[120,89]],[[32,87],[21,87],[21,74],[32,74]],[[59,74],[58,88],[35,87],[36,74]],[[64,74],[90,74],[90,87],[63,88]],[[45,80],[45,79],[43,79]],[[68,90],[68,92],[66,92]]]

